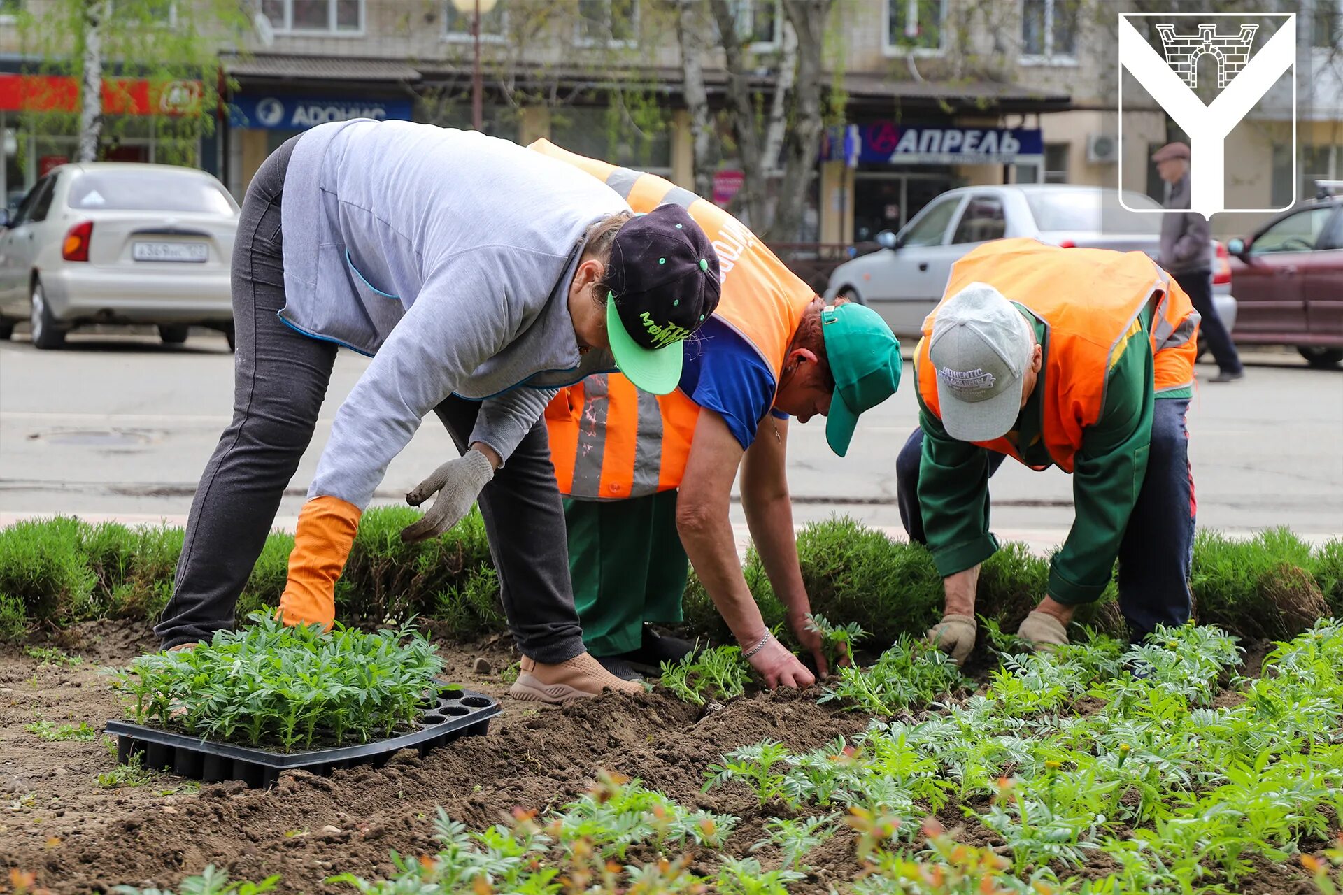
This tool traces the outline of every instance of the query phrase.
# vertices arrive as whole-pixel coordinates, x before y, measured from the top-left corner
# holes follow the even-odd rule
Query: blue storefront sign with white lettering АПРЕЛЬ
[[[854,146],[857,142],[857,148]],[[821,156],[826,161],[892,165],[1007,165],[1022,156],[1039,156],[1045,141],[1038,129],[962,127],[952,125],[841,125],[826,131]]]

